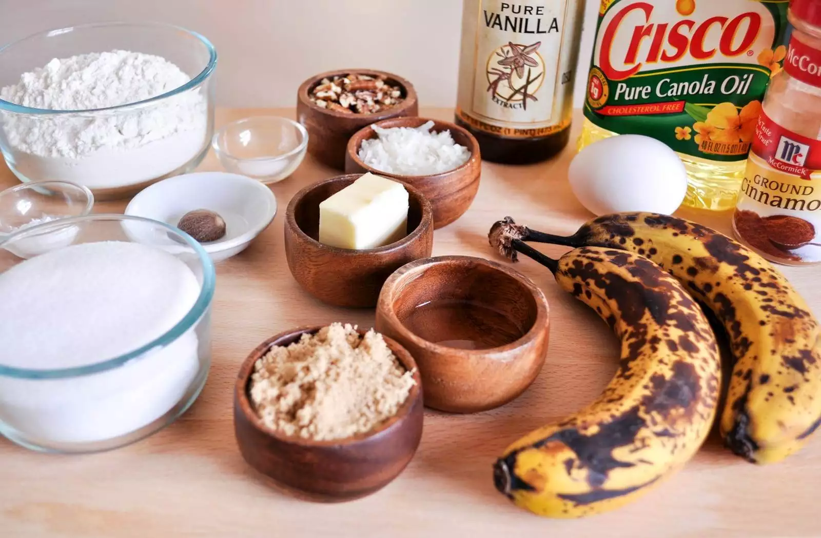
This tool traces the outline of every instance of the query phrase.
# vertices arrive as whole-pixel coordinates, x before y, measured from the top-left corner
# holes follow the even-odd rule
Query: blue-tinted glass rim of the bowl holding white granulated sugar
[[[158,336],[154,340],[151,340],[149,343],[144,344],[140,346],[140,348],[134,349],[129,353],[124,353],[114,358],[107,358],[100,362],[94,362],[93,364],[69,368],[33,370],[30,368],[9,367],[0,363],[0,376],[32,380],[66,379],[72,377],[88,376],[90,374],[95,374],[99,372],[107,372],[108,370],[121,367],[124,364],[126,364],[126,362],[129,362],[133,359],[140,358],[142,355],[148,353],[152,349],[162,348],[168,344],[172,344],[181,335],[184,335],[186,331],[189,331],[190,328],[193,327],[197,321],[200,321],[200,318],[210,307],[213,299],[214,287],[216,285],[217,276],[216,272],[214,271],[213,262],[211,261],[209,254],[205,252],[205,249],[202,248],[202,246],[199,243],[197,243],[197,241],[194,238],[186,234],[186,232],[179,230],[174,226],[167,225],[165,222],[155,221],[154,219],[144,217],[135,217],[132,215],[122,215],[118,213],[97,213],[94,215],[87,215],[85,217],[69,217],[65,219],[60,219],[58,221],[45,222],[44,224],[40,224],[37,226],[31,226],[30,228],[25,228],[25,230],[20,230],[14,234],[11,234],[5,240],[0,241],[0,248],[2,248],[2,245],[7,243],[8,241],[16,239],[18,235],[40,235],[44,231],[47,232],[48,228],[50,227],[58,228],[70,225],[72,223],[88,221],[137,221],[143,222],[145,224],[150,224],[153,226],[158,226],[160,228],[167,230],[168,232],[172,232],[173,234],[180,236],[181,239],[185,240],[188,246],[194,249],[197,258],[200,261],[200,266],[203,269],[203,282],[200,288],[200,295],[197,297],[197,300],[191,306],[189,311],[186,312],[186,315],[182,317],[180,321],[177,321],[177,324],[172,326],[171,329],[163,333],[163,335]]]

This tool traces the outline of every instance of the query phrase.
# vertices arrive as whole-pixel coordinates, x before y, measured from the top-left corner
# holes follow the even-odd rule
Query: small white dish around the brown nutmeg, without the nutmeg
[[[162,180],[144,189],[128,204],[126,215],[177,226],[183,215],[195,209],[210,209],[225,219],[225,237],[203,244],[213,262],[222,262],[245,250],[268,227],[277,214],[277,198],[267,186],[250,177],[227,172],[195,172]],[[173,245],[169,239],[169,248]]]

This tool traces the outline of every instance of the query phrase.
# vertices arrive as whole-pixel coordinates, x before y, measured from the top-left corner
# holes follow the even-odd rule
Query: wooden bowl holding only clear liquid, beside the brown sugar
[[[466,256],[428,258],[385,282],[376,330],[415,358],[425,405],[475,413],[515,399],[539,374],[548,302],[509,267]]]

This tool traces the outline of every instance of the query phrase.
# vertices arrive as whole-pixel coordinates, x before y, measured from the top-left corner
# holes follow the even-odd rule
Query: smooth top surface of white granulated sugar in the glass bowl
[[[122,241],[76,244],[0,274],[0,364],[66,368],[129,353],[194,305],[185,263]]]

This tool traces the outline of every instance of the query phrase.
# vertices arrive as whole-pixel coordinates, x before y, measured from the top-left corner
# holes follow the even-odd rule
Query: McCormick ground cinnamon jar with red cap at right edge
[[[793,0],[784,68],[764,98],[733,229],[773,262],[821,262],[821,0]]]

